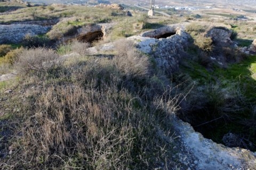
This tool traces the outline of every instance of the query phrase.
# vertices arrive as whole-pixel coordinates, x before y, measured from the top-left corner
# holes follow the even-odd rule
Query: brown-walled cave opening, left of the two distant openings
[[[102,31],[94,31],[77,37],[77,40],[84,43],[92,43],[93,41],[99,41],[100,39],[102,39],[103,35],[104,34]]]

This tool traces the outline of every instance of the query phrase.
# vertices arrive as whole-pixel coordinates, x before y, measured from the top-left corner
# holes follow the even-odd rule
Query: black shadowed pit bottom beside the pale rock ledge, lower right
[[[193,126],[194,130],[201,133],[204,138],[222,143],[227,147],[256,151],[255,128],[252,123],[242,122],[241,117],[237,116],[248,113],[220,112],[213,108],[213,105],[181,112],[179,118]]]

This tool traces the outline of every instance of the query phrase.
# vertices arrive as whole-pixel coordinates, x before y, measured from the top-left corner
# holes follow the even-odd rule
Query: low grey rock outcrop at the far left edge
[[[48,32],[51,26],[31,24],[0,25],[0,44],[21,43],[26,35],[36,36]]]

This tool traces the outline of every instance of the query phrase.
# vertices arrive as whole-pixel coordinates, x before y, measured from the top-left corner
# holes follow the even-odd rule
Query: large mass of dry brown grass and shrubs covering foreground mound
[[[88,57],[68,66],[43,66],[58,57],[52,50],[25,50],[17,61],[24,73],[23,99],[16,107],[22,107],[13,113],[22,120],[17,124],[22,135],[12,138],[12,154],[0,167],[169,169],[177,164],[171,161],[169,122],[179,95],[151,73],[147,56],[125,45],[114,57]]]

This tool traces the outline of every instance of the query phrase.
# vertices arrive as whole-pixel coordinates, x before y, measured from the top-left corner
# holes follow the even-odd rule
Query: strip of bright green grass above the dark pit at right
[[[249,56],[246,60],[237,64],[230,64],[227,69],[215,68],[213,71],[207,71],[205,67],[197,63],[191,63],[193,68],[185,69],[193,79],[199,82],[215,81],[220,82],[225,87],[226,82],[239,83],[244,88],[245,95],[251,99],[256,97],[255,92],[255,73],[256,56]],[[193,72],[189,72],[192,69]],[[227,84],[228,86],[229,84]]]

